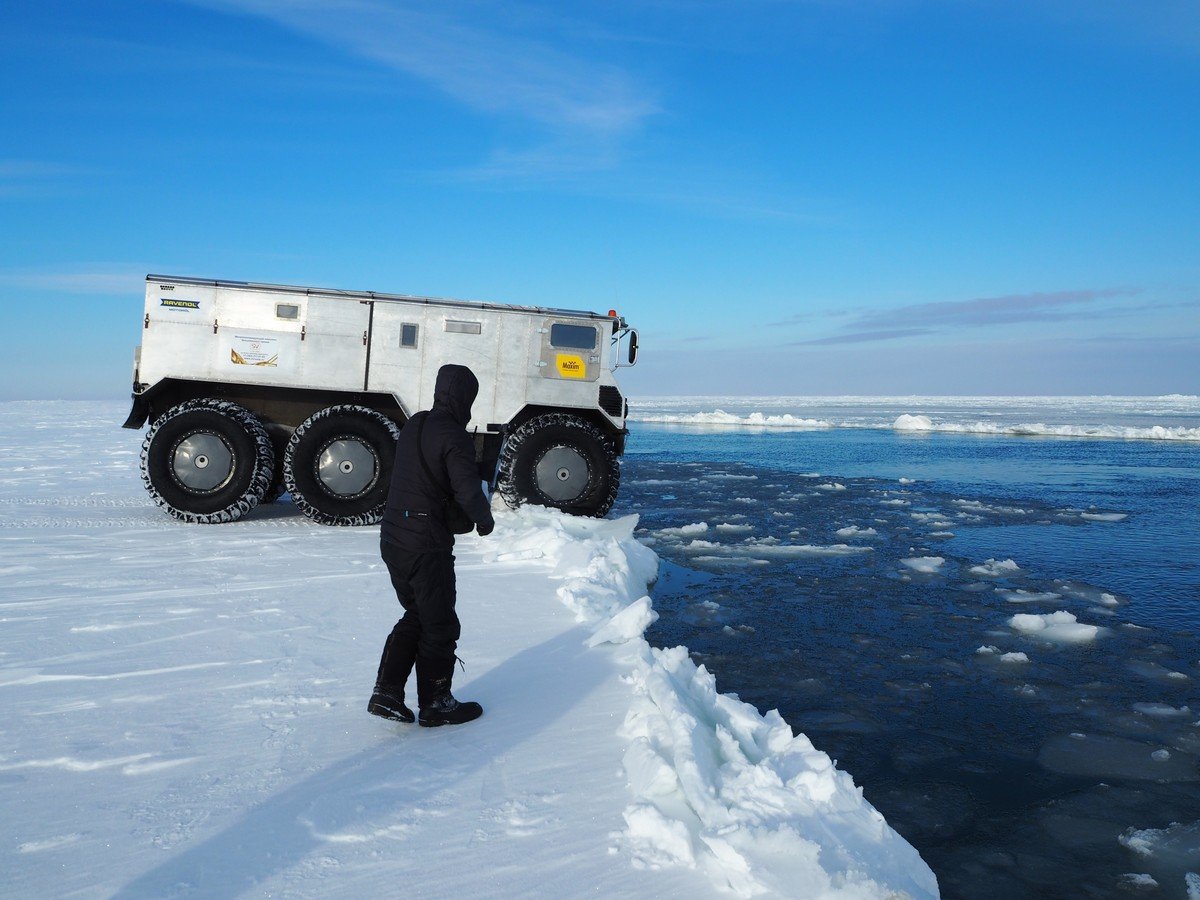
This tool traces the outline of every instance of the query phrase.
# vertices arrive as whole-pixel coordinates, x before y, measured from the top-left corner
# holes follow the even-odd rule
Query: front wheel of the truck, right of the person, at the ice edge
[[[526,503],[575,516],[604,516],[617,499],[620,464],[611,438],[566,413],[530,419],[504,442],[497,486],[516,509]]]

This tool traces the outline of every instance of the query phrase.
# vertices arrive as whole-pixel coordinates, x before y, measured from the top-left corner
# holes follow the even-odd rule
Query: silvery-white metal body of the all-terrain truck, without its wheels
[[[608,410],[599,402],[600,388],[617,384],[618,322],[581,311],[152,275],[137,390],[181,379],[389,394],[407,418],[432,406],[438,368],[454,362],[479,378],[472,430],[496,431],[535,406],[596,410],[623,431],[623,402]]]

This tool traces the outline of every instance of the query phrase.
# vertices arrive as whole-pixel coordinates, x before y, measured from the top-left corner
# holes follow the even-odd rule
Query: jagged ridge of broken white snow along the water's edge
[[[620,736],[634,792],[625,844],[636,862],[706,872],[739,895],[931,896],[932,872],[829,756],[716,690],[684,647],[658,649],[643,631],[658,617],[644,595],[658,559],[612,522],[523,509],[498,517],[508,548],[539,552],[562,578],[558,595],[589,625],[592,646],[624,644],[634,701]]]

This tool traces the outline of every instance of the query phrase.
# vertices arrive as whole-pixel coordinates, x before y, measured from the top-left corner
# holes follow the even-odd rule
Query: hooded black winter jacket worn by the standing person
[[[406,422],[396,442],[396,464],[391,470],[388,506],[379,535],[389,544],[410,553],[446,551],[454,547],[454,534],[446,528],[443,485],[476,527],[485,532],[494,526],[492,510],[475,464],[475,443],[467,434],[470,406],[479,394],[479,380],[466,366],[442,366],[433,388],[433,408],[418,413]],[[425,461],[440,480],[431,484],[418,456],[418,426],[425,421],[422,445]],[[407,511],[407,516],[404,515]],[[418,515],[424,514],[424,515]]]

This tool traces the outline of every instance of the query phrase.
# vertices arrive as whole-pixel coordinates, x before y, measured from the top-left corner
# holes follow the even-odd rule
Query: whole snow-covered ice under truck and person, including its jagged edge
[[[378,530],[180,524],[124,412],[0,404],[0,894],[936,895],[826,754],[646,643],[634,517],[462,540],[485,716],[385,722]]]

